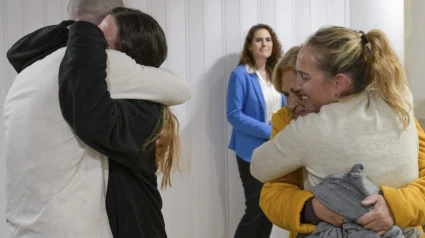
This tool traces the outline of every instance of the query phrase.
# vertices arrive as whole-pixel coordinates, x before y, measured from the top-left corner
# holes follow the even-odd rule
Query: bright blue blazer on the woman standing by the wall
[[[282,107],[286,98],[282,95]],[[238,66],[230,75],[227,86],[227,120],[232,124],[229,149],[247,162],[252,152],[270,139],[272,126],[265,122],[266,107],[259,78],[245,65]]]

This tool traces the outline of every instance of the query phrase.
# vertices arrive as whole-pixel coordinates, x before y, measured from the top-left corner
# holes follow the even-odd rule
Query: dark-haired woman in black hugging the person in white
[[[151,16],[128,8],[113,9],[99,27],[70,27],[59,72],[61,111],[81,140],[110,158],[106,207],[114,237],[167,237],[157,173],[162,188],[171,185],[180,152],[177,118],[159,103],[112,99],[105,80],[106,48],[159,67],[167,57],[165,34]]]

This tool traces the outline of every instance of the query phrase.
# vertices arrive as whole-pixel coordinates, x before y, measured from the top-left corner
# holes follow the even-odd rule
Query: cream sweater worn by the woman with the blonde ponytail
[[[410,101],[413,101],[408,91]],[[361,163],[377,185],[400,188],[418,178],[418,134],[413,112],[403,130],[396,112],[375,91],[361,92],[293,120],[252,155],[262,182],[305,167],[306,189]]]

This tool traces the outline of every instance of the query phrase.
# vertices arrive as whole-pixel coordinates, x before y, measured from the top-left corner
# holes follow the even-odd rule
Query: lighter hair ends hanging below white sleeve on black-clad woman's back
[[[180,160],[179,121],[167,106],[162,106],[161,123],[154,129],[153,136],[145,143],[144,149],[151,143],[160,140],[155,147],[155,163],[158,172],[162,173],[161,189],[171,187],[171,169]]]

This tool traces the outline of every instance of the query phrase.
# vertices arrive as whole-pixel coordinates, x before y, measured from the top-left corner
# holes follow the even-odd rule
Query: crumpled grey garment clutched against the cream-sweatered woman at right
[[[364,207],[360,202],[372,194],[382,195],[379,187],[365,177],[361,164],[354,165],[347,174],[326,177],[311,192],[324,206],[344,217],[344,225],[335,227],[329,223],[320,222],[313,233],[298,234],[299,238],[416,238],[421,236],[421,231],[417,228],[400,229],[396,225],[379,236],[355,223],[358,218],[373,208],[372,206]]]

